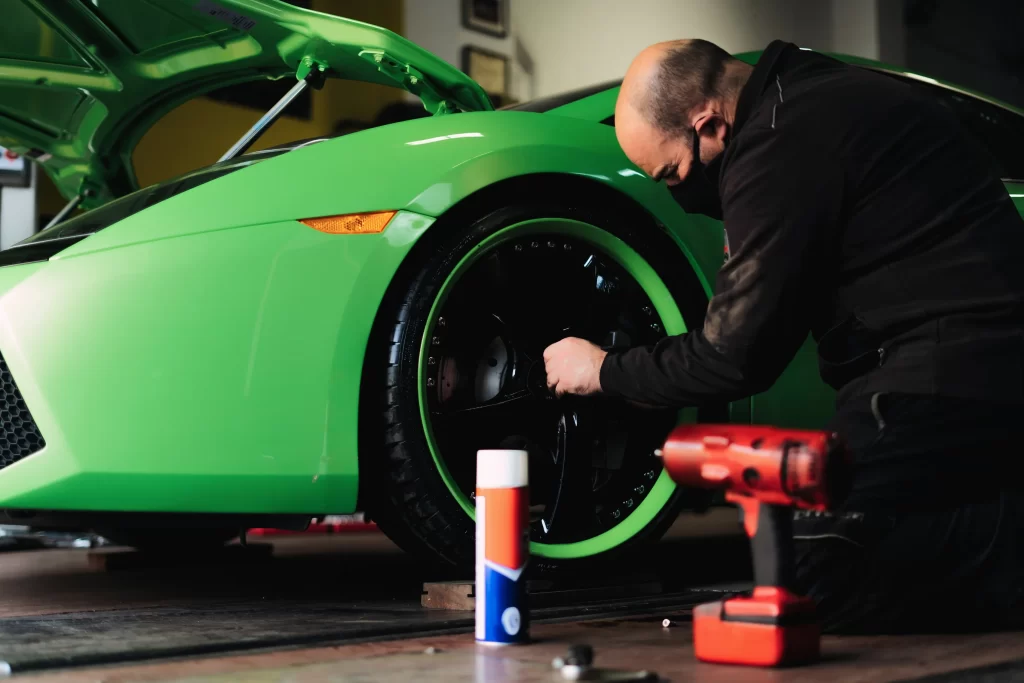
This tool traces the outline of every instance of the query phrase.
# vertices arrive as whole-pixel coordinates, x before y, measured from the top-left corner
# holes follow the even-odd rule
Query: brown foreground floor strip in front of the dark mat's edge
[[[27,675],[14,680],[54,683],[558,681],[563,679],[552,669],[552,659],[562,655],[572,643],[592,645],[595,666],[608,673],[635,673],[643,668],[656,674],[660,681],[714,683],[905,681],[1024,657],[1024,634],[1020,633],[971,638],[825,637],[820,663],[787,670],[764,670],[697,663],[693,658],[689,628],[664,629],[659,617],[546,625],[532,629],[531,633],[538,642],[502,649],[479,646],[471,635],[459,635],[83,669]],[[428,653],[431,648],[432,653]],[[976,679],[969,676],[963,680]]]

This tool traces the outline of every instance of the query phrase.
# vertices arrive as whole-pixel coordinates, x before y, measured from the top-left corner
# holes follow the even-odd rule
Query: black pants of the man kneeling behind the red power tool
[[[850,499],[794,518],[795,588],[825,632],[1024,628],[1024,405],[882,394],[831,427]]]

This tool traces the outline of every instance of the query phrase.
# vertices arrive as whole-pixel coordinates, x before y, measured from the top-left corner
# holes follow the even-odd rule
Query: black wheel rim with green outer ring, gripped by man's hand
[[[553,284],[562,289],[545,301],[540,295],[552,293]],[[434,463],[474,519],[476,450],[526,447],[534,555],[585,557],[622,545],[675,490],[652,452],[672,425],[693,421],[695,411],[556,400],[546,391],[547,344],[564,336],[608,343],[612,331],[635,345],[686,326],[665,283],[636,251],[568,219],[523,221],[489,236],[460,260],[431,306],[419,399]]]

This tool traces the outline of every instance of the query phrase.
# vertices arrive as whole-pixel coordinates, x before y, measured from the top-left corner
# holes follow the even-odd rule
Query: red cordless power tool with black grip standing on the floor
[[[755,588],[693,610],[698,659],[762,667],[817,659],[814,602],[795,594],[793,508],[828,510],[845,498],[850,461],[835,434],[743,425],[682,425],[662,449],[682,486],[725,488],[742,509]]]

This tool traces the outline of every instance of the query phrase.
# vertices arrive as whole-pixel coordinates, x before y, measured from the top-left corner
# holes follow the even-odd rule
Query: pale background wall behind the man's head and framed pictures
[[[510,0],[512,35],[502,40],[463,29],[461,0],[406,0],[406,36],[456,67],[466,43],[515,56],[518,42],[534,73],[514,68],[512,92],[528,99],[621,78],[644,47],[678,38],[730,52],[779,38],[877,57],[876,3],[884,1]]]

